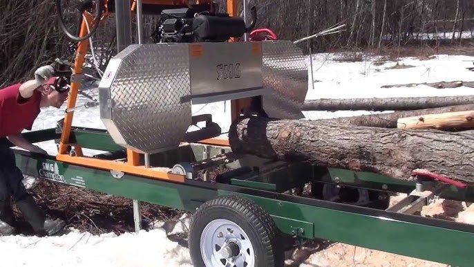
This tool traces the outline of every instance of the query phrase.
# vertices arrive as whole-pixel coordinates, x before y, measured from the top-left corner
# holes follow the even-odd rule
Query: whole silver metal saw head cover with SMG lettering
[[[306,92],[305,57],[290,41],[133,44],[109,62],[99,106],[118,145],[153,154],[182,142],[193,102],[263,95],[269,116],[303,118]]]

